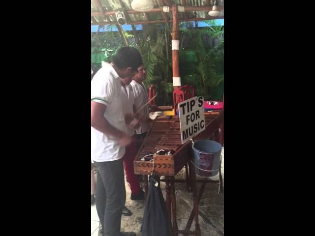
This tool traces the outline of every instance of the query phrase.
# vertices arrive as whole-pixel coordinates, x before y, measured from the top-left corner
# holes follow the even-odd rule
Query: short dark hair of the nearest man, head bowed
[[[142,58],[139,51],[133,47],[121,47],[112,57],[113,62],[118,69],[130,67],[136,71],[142,65]]]

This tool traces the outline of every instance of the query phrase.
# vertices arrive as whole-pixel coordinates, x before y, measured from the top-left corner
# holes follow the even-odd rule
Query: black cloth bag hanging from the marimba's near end
[[[141,236],[171,236],[165,201],[156,174],[150,176]]]

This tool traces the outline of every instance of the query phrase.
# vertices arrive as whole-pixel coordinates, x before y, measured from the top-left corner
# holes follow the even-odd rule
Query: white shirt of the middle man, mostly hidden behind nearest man
[[[134,96],[133,96],[133,90],[130,85],[126,86],[126,90],[123,86],[122,88],[122,99],[123,99],[123,108],[124,108],[124,114],[133,114],[133,105],[134,105]],[[130,137],[134,135],[135,130],[129,128],[126,126],[126,135],[129,135]]]

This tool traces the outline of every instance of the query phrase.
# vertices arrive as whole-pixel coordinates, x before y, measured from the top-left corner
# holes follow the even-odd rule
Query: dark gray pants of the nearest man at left
[[[126,203],[123,160],[94,162],[97,167],[96,210],[103,236],[120,236],[123,207]]]

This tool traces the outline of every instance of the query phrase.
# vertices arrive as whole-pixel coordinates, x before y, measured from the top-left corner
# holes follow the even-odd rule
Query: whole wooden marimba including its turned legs
[[[224,111],[205,112],[206,128],[199,133],[194,140],[210,139],[215,137],[217,142],[220,142],[219,128],[223,124]],[[173,150],[170,155],[154,155],[154,153],[160,149]],[[152,161],[143,161],[143,157],[150,154],[153,158]],[[143,141],[141,148],[139,149],[136,158],[133,162],[134,173],[143,175],[144,189],[148,191],[148,175],[156,173],[159,176],[165,176],[166,184],[166,207],[168,211],[169,221],[173,235],[183,234],[184,236],[193,234],[200,236],[200,227],[198,220],[198,202],[202,195],[205,184],[209,180],[205,180],[197,198],[196,190],[196,174],[194,167],[190,163],[191,156],[191,142],[187,142],[182,145],[181,132],[180,132],[180,120],[178,116],[165,116],[155,119],[151,129],[149,130],[146,138]],[[148,158],[150,160],[151,158]],[[189,165],[189,174],[188,168]],[[176,197],[175,197],[175,175],[180,172],[183,167],[186,167],[186,183],[193,192],[193,211],[190,214],[188,224],[185,230],[179,230],[176,220]],[[220,173],[221,174],[221,173]],[[222,184],[221,184],[222,185]],[[172,217],[173,216],[173,217]],[[195,232],[189,231],[193,218],[195,218]]]

